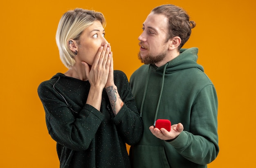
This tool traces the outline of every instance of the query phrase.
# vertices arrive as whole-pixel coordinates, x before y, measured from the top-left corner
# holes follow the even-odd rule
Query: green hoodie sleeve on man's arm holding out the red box
[[[209,164],[219,152],[217,109],[216,90],[208,84],[195,97],[190,131],[182,131],[175,140],[167,143],[186,159],[197,164]]]

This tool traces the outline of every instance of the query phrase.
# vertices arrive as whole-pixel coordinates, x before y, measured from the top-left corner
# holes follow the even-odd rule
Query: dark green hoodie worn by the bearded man
[[[196,63],[198,48],[161,67],[142,65],[130,78],[144,133],[130,148],[133,168],[206,168],[219,152],[218,100],[213,83]],[[171,142],[149,130],[156,119],[182,123],[184,131]]]

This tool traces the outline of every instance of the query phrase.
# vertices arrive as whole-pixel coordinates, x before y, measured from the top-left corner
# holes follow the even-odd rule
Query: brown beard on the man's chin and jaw
[[[153,56],[150,53],[148,53],[146,56],[144,56],[142,58],[141,57],[141,52],[139,52],[139,54],[138,54],[139,60],[141,61],[141,63],[144,63],[144,64],[155,64],[155,63],[158,63],[158,62],[162,61],[165,56],[166,56],[166,53],[162,53],[162,54],[159,54],[157,56]]]

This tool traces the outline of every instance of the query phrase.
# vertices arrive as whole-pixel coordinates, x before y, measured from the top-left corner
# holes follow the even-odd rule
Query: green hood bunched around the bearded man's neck
[[[202,72],[204,72],[204,68],[197,64],[196,61],[198,59],[198,48],[192,47],[189,49],[180,49],[180,55],[169,61],[165,70],[166,74],[170,74],[182,69],[188,68],[198,68]],[[164,72],[165,65],[161,67],[157,67],[156,65],[151,64],[150,67],[157,72]]]

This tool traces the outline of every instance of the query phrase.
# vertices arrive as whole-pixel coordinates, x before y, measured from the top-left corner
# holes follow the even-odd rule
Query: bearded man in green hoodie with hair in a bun
[[[144,133],[130,148],[133,168],[206,168],[216,159],[218,100],[213,83],[196,63],[198,48],[181,49],[195,22],[180,7],[155,7],[139,36],[145,65],[130,78]],[[171,131],[155,128],[168,119]]]

